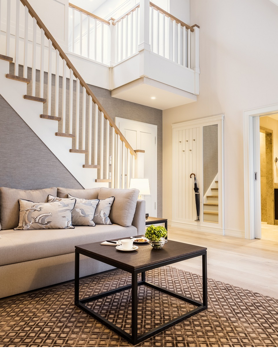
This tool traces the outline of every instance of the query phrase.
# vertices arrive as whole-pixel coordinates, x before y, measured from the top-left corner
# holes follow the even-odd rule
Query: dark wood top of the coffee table
[[[123,268],[132,270],[143,269],[152,265],[162,264],[161,266],[169,264],[176,259],[186,259],[194,254],[199,254],[206,251],[206,248],[201,246],[189,245],[178,241],[168,240],[162,249],[153,249],[150,245],[138,245],[136,251],[122,252],[116,250],[115,246],[100,245],[101,242],[92,244],[85,244],[76,246],[78,251],[82,254],[91,254],[97,260],[105,259],[106,263],[120,265]],[[92,256],[91,256],[92,257]],[[178,260],[182,261],[182,260]],[[117,267],[117,266],[116,266]]]

